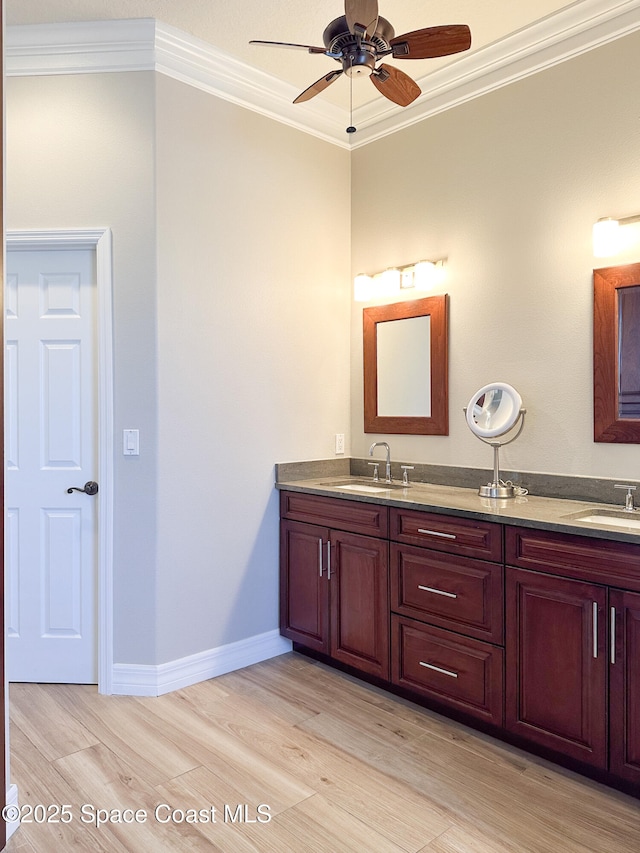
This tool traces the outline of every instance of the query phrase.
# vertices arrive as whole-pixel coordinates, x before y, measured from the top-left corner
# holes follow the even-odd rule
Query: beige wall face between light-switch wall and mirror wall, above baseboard
[[[278,626],[274,464],[349,430],[350,173],[347,151],[162,76],[157,116],[168,661]]]

